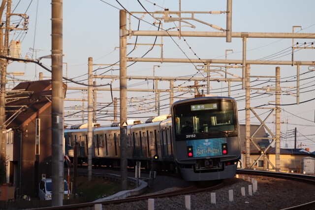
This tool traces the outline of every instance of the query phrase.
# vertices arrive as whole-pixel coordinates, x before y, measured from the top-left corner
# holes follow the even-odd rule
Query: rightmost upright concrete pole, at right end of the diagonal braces
[[[276,171],[280,171],[280,67],[276,67]]]

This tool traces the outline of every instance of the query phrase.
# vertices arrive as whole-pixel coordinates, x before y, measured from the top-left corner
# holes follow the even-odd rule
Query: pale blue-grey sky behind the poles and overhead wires
[[[182,11],[225,11],[225,0],[182,0]],[[233,0],[232,3],[232,31],[233,32],[292,32],[292,26],[296,27],[294,32],[314,33],[314,0]],[[119,75],[119,66],[109,66],[119,61],[119,10],[123,7],[129,12],[149,12],[179,10],[178,0],[64,0],[63,1],[63,75],[82,83],[87,83],[88,58],[94,61],[96,74]],[[144,9],[145,8],[145,9]],[[27,31],[13,30],[10,32],[10,40],[21,41],[21,58],[36,60],[40,57],[51,54],[51,1],[49,0],[12,0],[12,13],[27,14],[29,25]],[[127,20],[127,28],[131,30],[158,30],[158,20],[150,15],[134,14],[140,20],[131,17],[130,25]],[[182,17],[190,17],[186,14]],[[160,17],[160,15],[155,15]],[[2,17],[3,20],[4,16]],[[128,17],[129,18],[129,17]],[[209,24],[226,28],[225,14],[195,14],[194,18]],[[20,22],[20,18],[11,17],[11,23],[15,25]],[[153,23],[156,23],[155,25]],[[202,23],[188,20],[190,25],[182,22],[182,31],[218,31]],[[164,30],[177,30],[178,22],[162,23]],[[175,29],[174,29],[175,28]],[[156,41],[155,41],[156,40]],[[299,46],[308,47],[315,40],[295,39]],[[232,38],[231,43],[225,42],[225,38],[217,37],[145,37],[131,36],[127,38],[128,57],[140,58],[160,58],[163,44],[163,58],[182,59],[227,59],[242,60],[242,40]],[[138,45],[134,48],[134,43]],[[140,45],[151,44],[151,45]],[[248,60],[291,60],[292,39],[274,38],[249,38],[247,41]],[[225,51],[230,50],[230,51]],[[231,51],[232,50],[232,51]],[[315,61],[315,49],[301,49],[294,53],[295,60]],[[49,59],[42,59],[41,62],[51,68]],[[119,63],[117,63],[119,64]],[[131,63],[127,63],[129,65]],[[156,66],[155,66],[156,65]],[[157,67],[159,65],[160,67]],[[168,63],[168,62],[136,62],[127,67],[127,75],[133,76],[153,76],[155,69],[156,76],[169,77],[205,77],[196,70],[195,63]],[[224,65],[224,64],[222,64]],[[155,66],[155,68],[154,68]],[[198,67],[198,66],[197,66]],[[309,71],[309,66],[300,68],[300,104],[296,105],[296,66],[281,65],[281,147],[294,148],[294,128],[297,128],[297,147],[310,148],[315,150],[315,71]],[[275,76],[275,65],[251,65],[251,75],[254,76]],[[312,67],[310,67],[312,69]],[[314,67],[313,67],[314,68]],[[216,69],[213,67],[212,69]],[[11,62],[8,65],[8,72],[23,71],[24,76],[15,76],[15,80],[38,80],[39,72],[43,72],[45,79],[50,79],[51,74],[40,66],[33,63]],[[241,68],[229,69],[230,73],[241,76]],[[212,72],[212,77],[220,77],[218,72]],[[12,80],[12,76],[8,76]],[[18,81],[15,81],[16,85]],[[97,85],[112,84],[113,88],[119,88],[119,81],[110,79],[96,79]],[[73,83],[68,83],[68,87],[82,87]],[[193,81],[175,81],[175,87],[193,86]],[[199,85],[206,85],[200,82]],[[251,87],[262,89],[263,87],[274,87],[274,78],[251,78]],[[227,83],[211,82],[210,94],[227,96]],[[241,89],[239,82],[231,83],[231,97],[238,101],[239,121],[245,124],[245,90]],[[12,81],[8,82],[7,88],[12,88]],[[128,88],[152,89],[152,81],[130,80],[127,82]],[[168,89],[169,82],[160,81],[158,88]],[[204,89],[205,90],[205,89]],[[205,90],[206,91],[206,90]],[[119,91],[113,91],[113,97],[119,98]],[[292,95],[293,94],[293,95]],[[174,101],[192,97],[193,90],[182,92],[177,89],[174,92]],[[128,118],[145,121],[149,117],[157,116],[154,108],[155,93],[149,91],[128,92]],[[87,91],[67,90],[66,98],[86,98]],[[131,99],[132,98],[132,99]],[[251,91],[251,107],[274,103],[274,92],[264,90]],[[97,92],[97,112],[99,117],[97,122],[101,125],[110,124],[113,120],[113,104],[110,91]],[[64,115],[79,112],[82,102],[65,101]],[[288,105],[292,104],[292,105]],[[75,107],[76,106],[76,107]],[[107,107],[106,107],[107,106]],[[263,107],[274,107],[266,105]],[[87,108],[87,103],[84,104]],[[107,112],[106,112],[107,111]],[[267,109],[257,109],[257,114],[261,119],[265,119],[269,114]],[[169,93],[160,93],[160,115],[169,114]],[[266,124],[274,133],[275,116],[272,115],[266,120]],[[87,122],[87,114],[85,116]],[[82,123],[82,113],[77,113],[65,118],[67,125]],[[259,121],[251,114],[251,123],[259,124]]]

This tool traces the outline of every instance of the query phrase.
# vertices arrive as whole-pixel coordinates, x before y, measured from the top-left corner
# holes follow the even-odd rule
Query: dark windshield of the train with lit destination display
[[[175,105],[175,134],[195,138],[237,136],[233,101],[194,101]]]

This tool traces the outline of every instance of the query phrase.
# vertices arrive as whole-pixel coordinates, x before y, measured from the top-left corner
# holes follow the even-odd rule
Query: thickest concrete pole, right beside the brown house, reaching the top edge
[[[52,206],[63,205],[63,0],[52,0]]]

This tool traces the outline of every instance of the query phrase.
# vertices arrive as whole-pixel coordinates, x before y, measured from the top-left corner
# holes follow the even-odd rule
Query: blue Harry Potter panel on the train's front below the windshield
[[[226,138],[188,140],[187,146],[192,146],[193,157],[222,155],[222,144]]]

